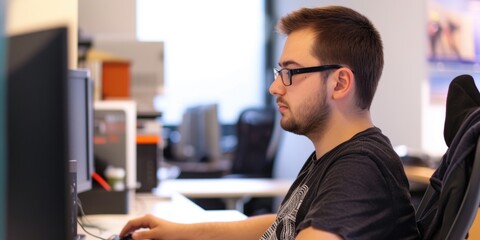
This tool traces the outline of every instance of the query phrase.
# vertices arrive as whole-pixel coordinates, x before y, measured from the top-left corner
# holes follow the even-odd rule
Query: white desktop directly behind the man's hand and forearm
[[[237,221],[247,217],[235,210],[206,211],[179,194],[172,194],[168,198],[153,194],[136,194],[135,208],[131,214],[98,214],[87,215],[81,220],[88,225],[85,229],[92,234],[107,239],[118,234],[122,227],[132,218],[153,214],[157,217],[179,223],[195,223],[207,221]],[[85,240],[97,239],[86,234],[78,226],[78,233],[85,234]]]

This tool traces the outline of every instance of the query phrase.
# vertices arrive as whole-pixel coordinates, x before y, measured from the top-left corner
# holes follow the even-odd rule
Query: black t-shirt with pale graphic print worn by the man
[[[419,239],[403,166],[380,129],[318,160],[314,152],[261,239],[295,239],[310,226],[344,239]]]

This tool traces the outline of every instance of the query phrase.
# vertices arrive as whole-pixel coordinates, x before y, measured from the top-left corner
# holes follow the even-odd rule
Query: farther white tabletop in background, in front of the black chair
[[[153,191],[157,196],[179,193],[188,198],[222,198],[227,209],[243,212],[245,199],[283,197],[293,180],[267,178],[171,179],[162,181]]]

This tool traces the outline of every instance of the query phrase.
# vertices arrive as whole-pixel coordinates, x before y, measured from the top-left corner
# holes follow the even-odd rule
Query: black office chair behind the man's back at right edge
[[[480,93],[469,75],[447,94],[444,138],[448,150],[420,202],[421,239],[465,239],[480,203]]]

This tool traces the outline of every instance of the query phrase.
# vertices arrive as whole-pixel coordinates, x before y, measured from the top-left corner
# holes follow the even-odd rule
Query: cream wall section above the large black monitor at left
[[[77,0],[10,0],[7,1],[8,35],[45,28],[68,27],[70,68],[77,66]]]

